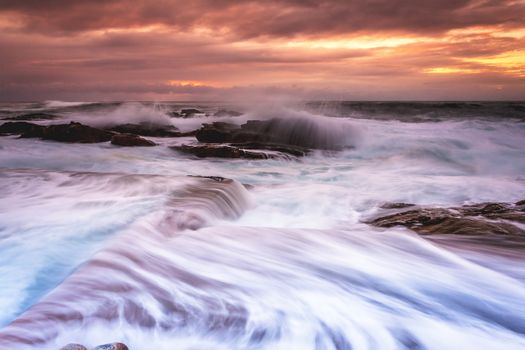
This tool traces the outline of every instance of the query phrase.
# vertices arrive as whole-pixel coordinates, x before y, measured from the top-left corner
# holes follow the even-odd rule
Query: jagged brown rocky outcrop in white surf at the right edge
[[[399,208],[410,209],[399,211]],[[513,224],[525,223],[525,203],[480,203],[451,208],[391,203],[386,213],[365,222],[378,227],[404,226],[422,235],[525,236],[525,230]]]

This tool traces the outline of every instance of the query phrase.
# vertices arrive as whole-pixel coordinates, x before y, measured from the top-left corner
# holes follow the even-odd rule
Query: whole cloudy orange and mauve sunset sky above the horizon
[[[0,0],[0,100],[524,100],[525,0]]]

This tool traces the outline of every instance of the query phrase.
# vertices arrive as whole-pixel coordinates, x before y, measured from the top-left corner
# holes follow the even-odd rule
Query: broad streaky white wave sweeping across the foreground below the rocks
[[[363,228],[177,231],[164,219],[136,222],[6,327],[0,345],[525,346],[522,282],[419,237]]]

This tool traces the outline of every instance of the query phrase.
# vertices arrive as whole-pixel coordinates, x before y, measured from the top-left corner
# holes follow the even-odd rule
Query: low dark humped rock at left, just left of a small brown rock
[[[69,143],[97,143],[111,140],[114,133],[92,128],[76,122],[69,124],[49,125],[43,129],[29,130],[22,137],[41,137],[44,140],[53,140]]]

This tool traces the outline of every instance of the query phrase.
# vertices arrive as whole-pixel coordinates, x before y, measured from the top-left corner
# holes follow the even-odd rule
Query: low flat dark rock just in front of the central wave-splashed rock
[[[263,152],[254,152],[243,150],[237,147],[227,145],[197,145],[197,146],[174,146],[173,149],[188,154],[193,154],[199,158],[215,157],[215,158],[247,158],[247,159],[269,159],[279,158],[274,154],[266,154]]]

